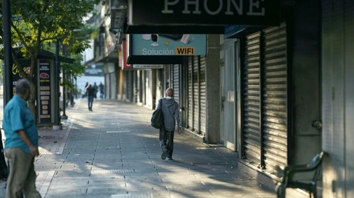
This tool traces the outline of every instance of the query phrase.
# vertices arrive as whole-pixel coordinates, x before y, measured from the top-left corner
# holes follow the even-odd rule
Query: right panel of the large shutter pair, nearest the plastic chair
[[[263,30],[263,155],[267,170],[287,164],[286,24]]]

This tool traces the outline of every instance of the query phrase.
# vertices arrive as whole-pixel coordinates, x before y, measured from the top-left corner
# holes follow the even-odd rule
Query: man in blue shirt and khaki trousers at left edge
[[[41,198],[36,190],[35,156],[38,151],[38,130],[34,116],[27,106],[30,85],[26,79],[16,84],[16,94],[4,109],[4,153],[10,162],[6,198]],[[23,194],[22,194],[23,193]]]

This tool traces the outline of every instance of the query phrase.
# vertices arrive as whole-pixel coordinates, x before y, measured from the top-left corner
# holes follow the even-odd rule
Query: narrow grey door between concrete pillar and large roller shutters
[[[225,66],[222,71],[222,143],[235,151],[235,46],[225,49]]]

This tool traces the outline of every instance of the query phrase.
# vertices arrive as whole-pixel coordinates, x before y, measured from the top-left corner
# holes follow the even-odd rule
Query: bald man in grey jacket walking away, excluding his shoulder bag
[[[160,129],[160,147],[162,149],[161,159],[172,160],[173,153],[173,137],[174,129],[177,120],[177,132],[181,134],[181,116],[178,103],[173,99],[173,90],[168,88],[166,90],[166,98],[162,98],[162,105],[157,104],[157,109],[161,108],[164,115],[164,128]]]

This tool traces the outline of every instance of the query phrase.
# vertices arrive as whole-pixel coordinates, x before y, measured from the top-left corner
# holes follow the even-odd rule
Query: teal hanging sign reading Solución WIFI
[[[206,55],[207,35],[132,35],[132,55]]]

